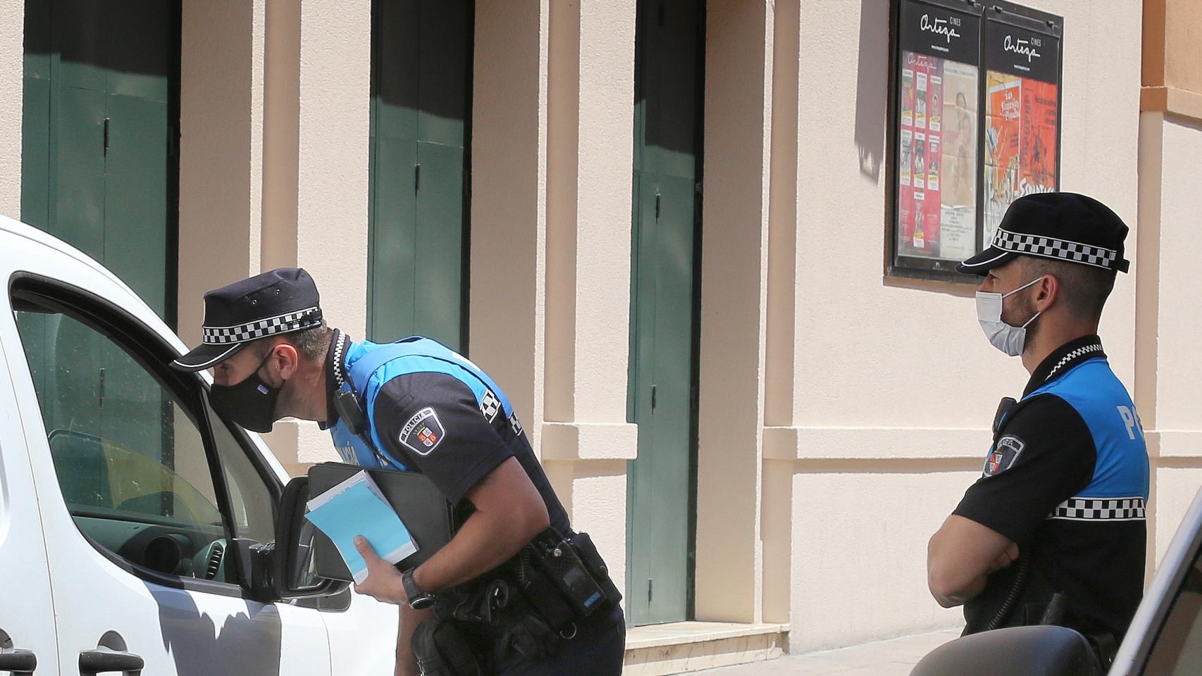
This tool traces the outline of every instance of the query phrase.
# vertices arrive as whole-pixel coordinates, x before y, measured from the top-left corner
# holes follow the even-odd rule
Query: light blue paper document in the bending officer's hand
[[[357,585],[367,580],[368,568],[355,549],[355,536],[367,538],[376,555],[388,563],[397,563],[417,551],[409,528],[367,472],[358,472],[310,499],[308,508],[305,519],[333,540]]]

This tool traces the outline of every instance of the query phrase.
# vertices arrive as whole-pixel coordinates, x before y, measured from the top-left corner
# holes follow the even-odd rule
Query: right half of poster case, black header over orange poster
[[[1058,190],[1059,28],[986,22],[986,245],[1011,202]]]

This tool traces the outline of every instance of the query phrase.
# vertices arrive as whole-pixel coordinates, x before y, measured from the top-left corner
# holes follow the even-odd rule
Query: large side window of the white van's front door
[[[236,582],[194,407],[109,336],[37,310],[14,313],[76,526],[136,566]]]

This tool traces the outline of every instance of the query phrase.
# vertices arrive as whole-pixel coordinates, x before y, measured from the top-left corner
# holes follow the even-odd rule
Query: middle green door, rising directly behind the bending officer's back
[[[466,349],[471,0],[375,0],[368,336]]]

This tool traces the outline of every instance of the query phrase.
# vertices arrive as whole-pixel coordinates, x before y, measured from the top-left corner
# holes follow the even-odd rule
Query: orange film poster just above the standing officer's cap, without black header
[[[984,241],[1014,199],[1057,186],[1057,85],[986,72]]]

